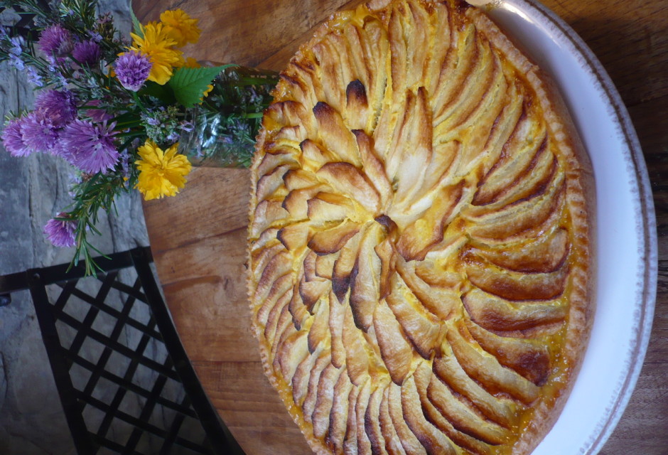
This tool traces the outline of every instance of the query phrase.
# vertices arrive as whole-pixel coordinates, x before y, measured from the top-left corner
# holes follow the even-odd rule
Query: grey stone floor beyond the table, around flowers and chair
[[[127,0],[100,0],[129,31]],[[0,65],[0,111],[30,108],[33,92],[16,70]],[[72,250],[45,240],[43,225],[69,203],[68,165],[53,156],[14,158],[0,149],[0,274],[69,262]],[[109,253],[148,245],[138,194],[117,201],[119,216],[101,214],[96,245]],[[74,454],[53,375],[27,291],[0,307],[0,454]]]

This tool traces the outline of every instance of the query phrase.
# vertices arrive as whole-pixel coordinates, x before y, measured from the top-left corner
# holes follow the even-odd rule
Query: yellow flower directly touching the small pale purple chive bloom
[[[172,67],[183,66],[183,53],[174,49],[176,41],[170,38],[162,23],[149,22],[141,27],[144,38],[134,33],[131,50],[144,53],[151,59],[151,73],[149,80],[165,85],[172,77]]]

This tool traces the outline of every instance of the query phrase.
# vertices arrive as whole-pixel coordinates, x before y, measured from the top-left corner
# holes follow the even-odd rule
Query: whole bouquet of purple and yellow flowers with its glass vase
[[[180,48],[200,37],[198,20],[164,11],[121,36],[96,0],[1,2],[32,17],[25,36],[0,28],[0,60],[38,89],[31,112],[12,113],[1,139],[12,156],[45,153],[72,166],[72,204],[46,223],[54,245],[75,247],[95,273],[87,240],[99,210],[139,190],[174,196],[193,165],[249,166],[273,72],[200,64]]]

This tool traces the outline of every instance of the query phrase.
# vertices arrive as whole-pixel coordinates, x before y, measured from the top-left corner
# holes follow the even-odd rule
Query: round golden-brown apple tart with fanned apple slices
[[[281,75],[252,166],[266,375],[318,454],[527,454],[591,320],[591,173],[480,11],[372,0]]]

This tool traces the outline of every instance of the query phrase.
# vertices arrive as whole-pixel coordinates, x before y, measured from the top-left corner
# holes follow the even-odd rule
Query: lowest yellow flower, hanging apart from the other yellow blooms
[[[185,176],[190,173],[190,162],[185,155],[177,154],[178,143],[162,151],[151,139],[139,147],[140,160],[137,188],[144,199],[151,200],[163,196],[175,196],[185,186]]]

